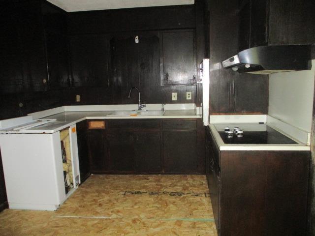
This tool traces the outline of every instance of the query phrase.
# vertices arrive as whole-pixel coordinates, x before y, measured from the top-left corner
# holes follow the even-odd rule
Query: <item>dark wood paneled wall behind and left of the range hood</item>
[[[207,0],[212,115],[268,112],[268,76],[239,74],[222,68],[222,60],[238,53],[238,4],[238,0]]]

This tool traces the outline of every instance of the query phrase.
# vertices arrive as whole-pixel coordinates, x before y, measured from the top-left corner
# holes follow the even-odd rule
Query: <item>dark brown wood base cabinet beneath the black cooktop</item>
[[[309,151],[220,151],[206,134],[206,175],[219,236],[304,236]]]

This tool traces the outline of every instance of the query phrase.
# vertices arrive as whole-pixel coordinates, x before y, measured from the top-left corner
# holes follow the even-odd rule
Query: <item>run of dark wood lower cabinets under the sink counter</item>
[[[204,174],[201,119],[103,121],[88,130],[92,174]]]

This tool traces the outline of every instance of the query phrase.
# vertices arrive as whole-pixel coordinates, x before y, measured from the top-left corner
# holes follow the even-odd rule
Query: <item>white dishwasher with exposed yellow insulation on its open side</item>
[[[0,149],[11,209],[56,210],[80,184],[75,124],[1,120]]]

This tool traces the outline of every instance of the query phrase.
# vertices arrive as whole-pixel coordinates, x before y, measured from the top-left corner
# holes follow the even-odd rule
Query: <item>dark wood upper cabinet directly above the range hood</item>
[[[313,44],[312,0],[242,0],[239,50],[263,45]]]

